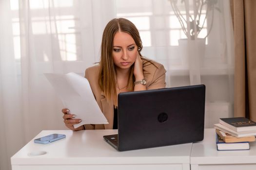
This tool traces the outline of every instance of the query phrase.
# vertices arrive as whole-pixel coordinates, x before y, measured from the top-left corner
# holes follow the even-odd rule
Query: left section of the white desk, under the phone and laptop
[[[12,170],[190,170],[192,143],[118,152],[102,137],[117,130],[42,131],[35,138],[53,133],[66,138],[49,144],[32,139],[11,157]],[[46,154],[30,155],[40,151]]]

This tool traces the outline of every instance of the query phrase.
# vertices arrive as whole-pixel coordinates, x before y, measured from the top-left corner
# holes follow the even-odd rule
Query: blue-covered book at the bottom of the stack
[[[233,150],[249,150],[249,142],[236,142],[236,143],[225,143],[218,134],[216,134],[216,145],[218,151],[233,151]]]

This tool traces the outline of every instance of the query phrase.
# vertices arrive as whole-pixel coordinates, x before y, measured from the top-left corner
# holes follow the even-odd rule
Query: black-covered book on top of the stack
[[[220,118],[219,123],[227,126],[236,132],[256,130],[256,122],[253,120],[238,117],[238,118]]]

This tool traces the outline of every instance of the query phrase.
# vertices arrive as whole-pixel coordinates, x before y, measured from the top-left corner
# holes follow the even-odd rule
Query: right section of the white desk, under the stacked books
[[[204,140],[193,143],[191,170],[256,170],[256,142],[247,151],[217,151],[215,129],[205,129]]]

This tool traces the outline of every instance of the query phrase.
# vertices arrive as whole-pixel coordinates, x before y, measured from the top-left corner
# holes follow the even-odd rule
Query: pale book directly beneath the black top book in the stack
[[[214,124],[215,125],[215,129],[218,129],[222,132],[226,132],[232,136],[236,136],[236,137],[244,137],[244,136],[256,136],[256,130],[254,131],[245,131],[245,132],[236,132],[226,126],[223,126],[222,124],[218,123],[218,124]]]

